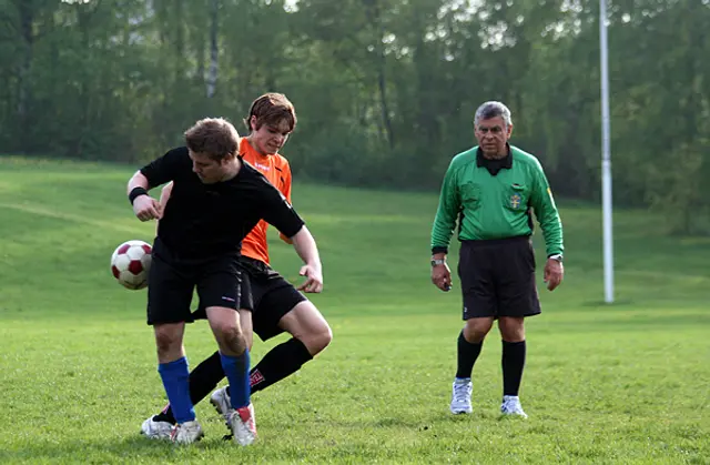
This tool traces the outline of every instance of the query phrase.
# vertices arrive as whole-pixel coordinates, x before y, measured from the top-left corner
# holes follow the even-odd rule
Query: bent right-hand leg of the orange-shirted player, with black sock
[[[278,328],[293,337],[268,351],[254,367],[251,374],[253,393],[294,374],[333,340],[331,326],[310,301],[300,302],[283,315],[278,321]]]

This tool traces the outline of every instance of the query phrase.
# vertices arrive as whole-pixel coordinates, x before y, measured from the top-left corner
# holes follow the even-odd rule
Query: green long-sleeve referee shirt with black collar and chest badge
[[[478,146],[459,153],[446,171],[432,230],[432,250],[448,250],[457,220],[459,241],[532,234],[532,208],[548,256],[562,253],[562,225],[540,162],[510,145],[509,168],[494,176],[478,162],[477,153]]]

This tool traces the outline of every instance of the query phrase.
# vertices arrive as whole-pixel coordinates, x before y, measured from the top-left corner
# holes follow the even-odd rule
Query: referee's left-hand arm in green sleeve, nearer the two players
[[[456,185],[456,170],[452,164],[446,171],[442,183],[439,205],[432,228],[432,282],[442,291],[452,289],[452,272],[446,264],[448,244],[456,228],[456,216],[460,209],[458,189]]]

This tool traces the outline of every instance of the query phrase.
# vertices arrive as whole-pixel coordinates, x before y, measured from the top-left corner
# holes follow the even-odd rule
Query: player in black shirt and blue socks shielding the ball
[[[149,275],[148,324],[153,325],[158,371],[178,421],[172,439],[202,437],[190,400],[189,368],[182,345],[191,322],[194,289],[206,306],[222,367],[230,381],[234,412],[229,423],[241,445],[256,437],[250,402],[250,357],[236,310],[242,239],[265,220],[290,237],[306,264],[310,291],[323,287],[313,236],[284,196],[239,156],[239,134],[223,119],[204,119],[185,131],[186,146],[143,166],[129,181],[129,199],[141,221],[160,219]],[[148,190],[173,181],[171,201],[161,212]]]

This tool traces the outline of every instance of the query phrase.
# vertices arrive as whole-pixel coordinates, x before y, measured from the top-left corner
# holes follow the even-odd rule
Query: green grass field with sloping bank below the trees
[[[141,437],[164,403],[145,292],[109,272],[119,243],[152,239],[124,195],[132,171],[0,159],[0,463],[710,464],[709,239],[665,237],[661,218],[617,211],[607,306],[599,211],[562,202],[566,281],[541,291],[544,313],[527,322],[530,417],[497,414],[495,333],[474,371],[474,414],[454,417],[460,296],[429,283],[436,196],[301,184],[294,203],[324,262],[313,300],[333,344],[254,396],[252,447],[223,442],[207,403],[201,443]],[[274,240],[272,256],[296,281],[291,247]],[[253,363],[284,340],[256,342]],[[212,353],[204,323],[185,345],[192,366]]]

